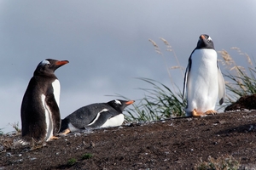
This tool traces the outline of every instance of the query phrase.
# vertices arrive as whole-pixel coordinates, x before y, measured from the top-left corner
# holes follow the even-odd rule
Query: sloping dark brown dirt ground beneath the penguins
[[[224,155],[256,168],[256,111],[81,131],[37,150],[11,149],[19,138],[0,137],[0,169],[193,169]]]

